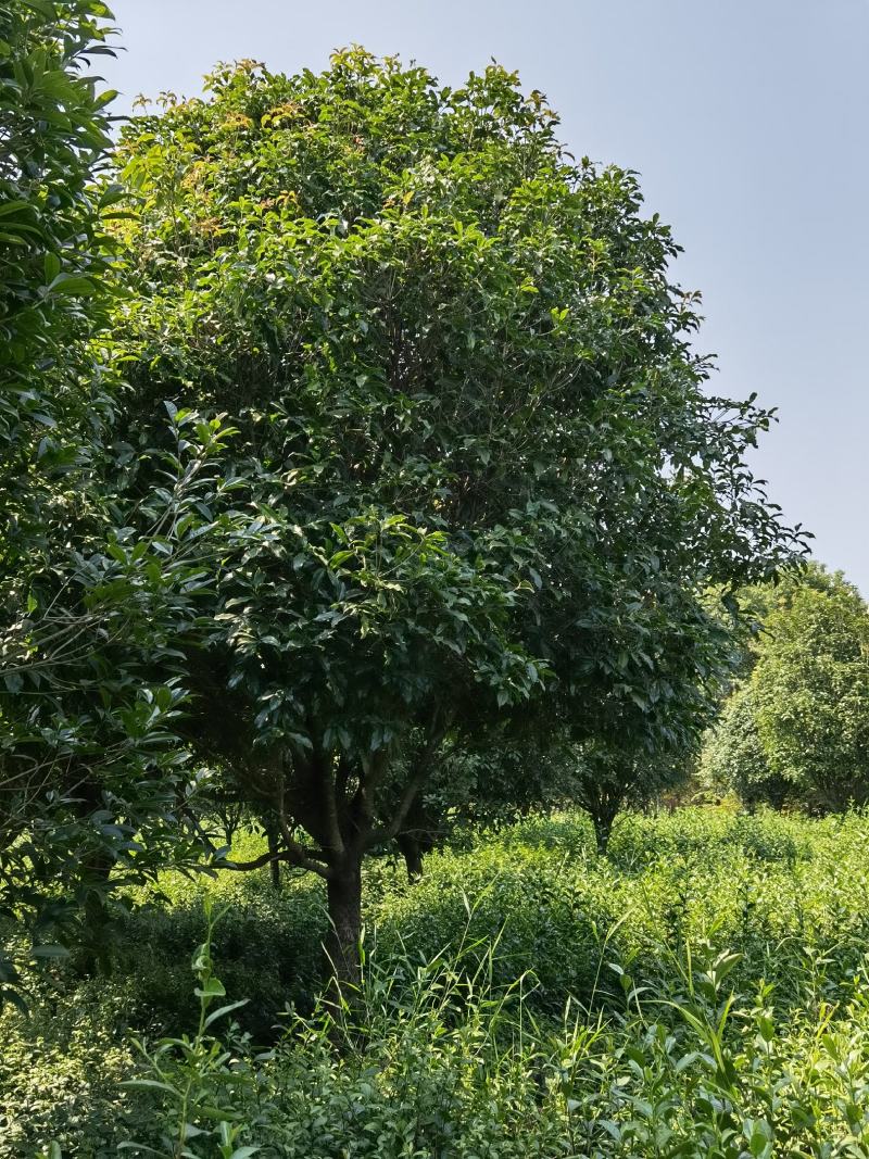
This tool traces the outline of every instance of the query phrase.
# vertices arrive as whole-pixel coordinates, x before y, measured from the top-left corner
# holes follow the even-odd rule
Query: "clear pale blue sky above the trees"
[[[111,3],[111,0],[110,0]],[[445,83],[490,58],[576,156],[641,174],[703,296],[716,393],[779,410],[752,459],[813,553],[869,596],[869,0],[115,0],[117,111],[218,60],[326,67],[363,44]]]

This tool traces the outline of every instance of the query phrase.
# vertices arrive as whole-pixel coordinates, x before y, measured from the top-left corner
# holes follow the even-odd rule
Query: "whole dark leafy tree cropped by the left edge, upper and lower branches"
[[[0,0],[0,1000],[22,956],[98,924],[112,885],[198,855],[178,826],[178,649],[239,531],[209,515],[232,487],[213,416],[163,413],[160,486],[125,488],[133,450],[90,348],[123,212],[94,73],[110,20],[100,0]]]

